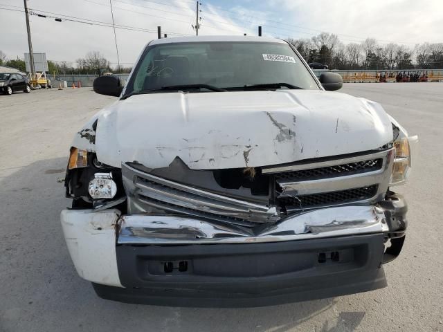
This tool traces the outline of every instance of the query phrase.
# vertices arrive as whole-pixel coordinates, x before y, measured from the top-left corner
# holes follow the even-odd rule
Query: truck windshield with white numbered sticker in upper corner
[[[285,85],[278,85],[280,83]],[[261,86],[253,87],[257,84]],[[148,47],[125,95],[167,92],[176,86],[176,90],[188,86],[206,92],[251,88],[320,89],[286,43],[198,42]]]

